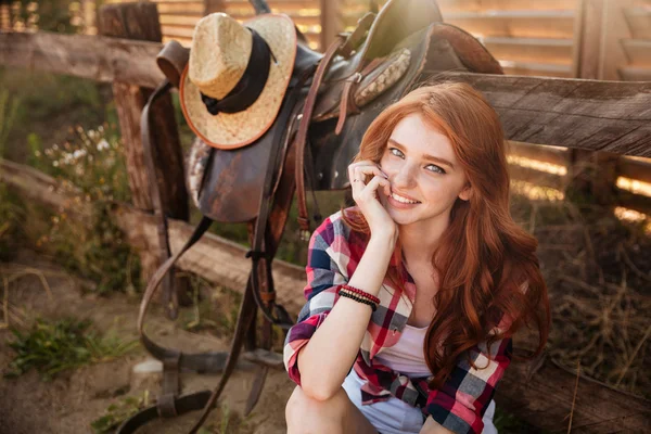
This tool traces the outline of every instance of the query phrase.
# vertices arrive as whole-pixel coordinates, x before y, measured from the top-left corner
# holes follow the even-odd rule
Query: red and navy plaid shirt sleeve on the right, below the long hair
[[[511,362],[512,340],[497,341],[490,349],[483,343],[469,353],[476,368],[461,356],[444,385],[430,393],[426,411],[454,433],[480,434],[484,430],[482,418],[486,407]]]

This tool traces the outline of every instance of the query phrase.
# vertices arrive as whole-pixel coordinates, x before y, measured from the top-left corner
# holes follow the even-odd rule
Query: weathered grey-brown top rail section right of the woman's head
[[[651,156],[651,82],[447,73],[481,90],[507,139]]]

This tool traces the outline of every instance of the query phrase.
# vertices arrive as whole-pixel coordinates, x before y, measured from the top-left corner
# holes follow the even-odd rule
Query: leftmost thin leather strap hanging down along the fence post
[[[148,170],[148,178],[150,179],[150,189],[152,203],[154,207],[154,219],[156,221],[156,234],[158,237],[158,252],[157,257],[159,264],[164,264],[170,254],[169,240],[167,237],[167,219],[165,218],[163,209],[163,197],[161,195],[161,189],[158,188],[158,177],[156,176],[156,150],[154,149],[151,140],[150,125],[151,119],[151,106],[154,102],[165,94],[171,88],[171,84],[165,79],[158,85],[154,92],[150,95],[146,104],[142,108],[140,117],[140,133],[142,139],[142,151],[145,168]],[[167,311],[167,316],[170,319],[176,319],[178,315],[178,294],[174,288],[174,270],[165,276],[163,279],[163,306]]]

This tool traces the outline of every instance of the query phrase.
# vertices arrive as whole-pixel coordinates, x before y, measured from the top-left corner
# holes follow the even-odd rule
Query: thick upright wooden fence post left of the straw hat
[[[115,3],[103,5],[98,13],[98,31],[102,36],[161,42],[161,23],[155,3]],[[113,95],[125,145],[126,164],[133,206],[151,212],[150,182],[157,182],[166,216],[188,220],[188,192],[183,180],[183,157],[179,143],[171,95],[159,98],[152,106],[156,179],[150,179],[143,161],[140,139],[140,114],[152,89],[113,81]],[[161,265],[155,248],[140,252],[143,282]],[[186,294],[187,281],[177,279],[176,291]]]

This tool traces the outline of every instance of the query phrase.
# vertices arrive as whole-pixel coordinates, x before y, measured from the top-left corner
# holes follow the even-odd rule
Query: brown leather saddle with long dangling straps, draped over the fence
[[[259,3],[260,1],[257,1]],[[256,366],[247,410],[261,392],[269,368],[282,369],[282,355],[271,352],[271,324],[289,330],[293,320],[276,304],[271,261],[282,237],[294,191],[298,221],[306,234],[309,221],[306,180],[314,190],[348,187],[346,168],[361,137],[376,115],[419,84],[444,71],[501,74],[499,63],[471,35],[443,23],[434,0],[390,0],[375,14],[365,15],[350,34],[340,34],[324,53],[298,37],[294,71],[273,125],[256,142],[238,150],[210,148],[196,139],[189,158],[188,183],[205,216],[186,245],[174,255],[166,240],[161,201],[154,200],[159,222],[163,266],[145,289],[138,328],[145,348],[164,363],[163,395],[157,406],[127,420],[118,433],[135,432],[151,419],[204,408],[191,432],[196,432],[222,392],[244,345],[240,366]],[[155,146],[149,137],[149,107],[179,78],[188,50],[168,42],[157,56],[167,77],[154,91],[142,114],[145,157],[153,173]],[[149,150],[148,150],[149,149]],[[155,182],[152,182],[155,184]],[[155,190],[156,187],[152,186]],[[154,196],[158,195],[154,191]],[[158,195],[159,197],[159,195]],[[318,220],[318,216],[316,218]],[[240,306],[230,352],[186,354],[154,343],[144,331],[144,317],[157,286],[174,264],[210,224],[251,222],[252,272]],[[164,289],[164,291],[166,291]],[[173,299],[174,297],[164,297]],[[175,307],[176,308],[176,307]],[[255,336],[257,310],[265,317],[260,342]],[[215,391],[179,396],[179,371],[221,372]]]

